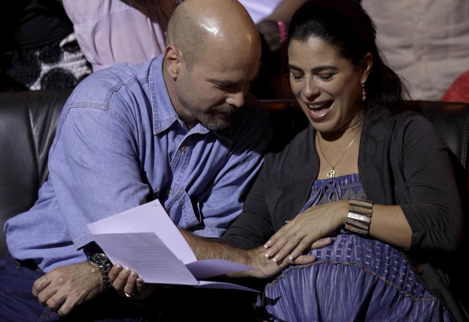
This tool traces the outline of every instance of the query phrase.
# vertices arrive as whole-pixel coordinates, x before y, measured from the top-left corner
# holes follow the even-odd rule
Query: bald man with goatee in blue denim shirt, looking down
[[[242,5],[187,0],[171,18],[164,54],[77,86],[39,200],[4,227],[10,255],[0,262],[0,320],[138,312],[105,292],[110,262],[89,222],[158,199],[193,235],[225,232],[268,141],[265,111],[246,99],[259,59],[256,26]]]

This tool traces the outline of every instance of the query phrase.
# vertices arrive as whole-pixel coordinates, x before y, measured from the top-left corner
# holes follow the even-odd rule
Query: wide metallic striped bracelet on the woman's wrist
[[[368,235],[373,203],[373,201],[351,199],[348,204],[345,229],[357,234]]]

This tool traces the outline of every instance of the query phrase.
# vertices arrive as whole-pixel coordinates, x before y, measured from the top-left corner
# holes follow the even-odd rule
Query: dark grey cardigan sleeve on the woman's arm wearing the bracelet
[[[408,119],[403,136],[403,171],[410,200],[401,204],[412,229],[411,250],[454,251],[462,241],[463,215],[448,148],[432,124]]]

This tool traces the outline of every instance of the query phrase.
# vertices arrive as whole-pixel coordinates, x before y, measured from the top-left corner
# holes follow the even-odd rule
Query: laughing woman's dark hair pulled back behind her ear
[[[319,37],[339,54],[359,66],[366,53],[373,66],[365,90],[365,110],[374,116],[401,109],[407,93],[399,76],[381,58],[376,45],[376,28],[359,2],[353,0],[309,0],[294,14],[288,39],[306,41]],[[387,113],[384,113],[387,114]]]

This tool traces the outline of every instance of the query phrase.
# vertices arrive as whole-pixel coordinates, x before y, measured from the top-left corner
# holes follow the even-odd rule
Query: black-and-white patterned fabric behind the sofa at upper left
[[[62,41],[13,51],[10,59],[7,86],[15,89],[73,88],[91,74],[74,33]]]

